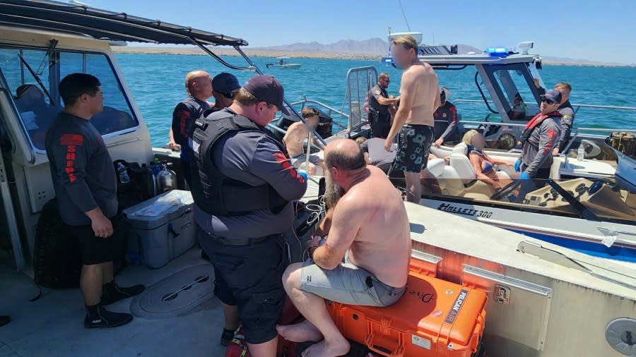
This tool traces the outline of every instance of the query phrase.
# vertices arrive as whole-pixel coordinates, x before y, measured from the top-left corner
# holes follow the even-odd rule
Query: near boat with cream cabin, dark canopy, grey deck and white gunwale
[[[27,111],[20,109],[23,103],[13,90],[17,85],[37,83],[48,93],[47,104],[59,107],[57,85],[66,73],[95,73],[105,89],[107,110],[94,124],[112,158],[146,163],[158,157],[178,162],[178,155],[170,150],[151,147],[148,128],[111,46],[122,41],[196,44],[230,68],[259,71],[242,51],[247,42],[51,1],[1,1],[0,39],[0,313],[13,319],[0,327],[0,354],[223,356],[217,339],[223,314],[212,294],[213,272],[199,258],[197,248],[158,269],[131,265],[117,276],[121,284],[143,282],[148,291],[157,287],[170,291],[140,296],[148,305],[135,305],[139,301],[113,305],[113,310],[134,305],[136,319],[129,325],[108,331],[83,329],[85,311],[78,289],[45,289],[39,300],[29,302],[37,293],[32,278],[36,226],[54,190],[47,156],[38,141],[40,126],[25,126],[25,120],[33,118],[23,115]],[[236,49],[247,66],[225,63],[208,45]],[[44,65],[38,68],[37,63]],[[298,115],[293,106],[290,109]],[[319,195],[319,178],[312,177],[303,200],[315,202]],[[320,217],[321,212],[308,211],[311,207],[299,210],[295,226]],[[591,257],[422,205],[406,203],[406,209],[412,258],[420,272],[488,294],[480,351],[491,357],[634,355],[635,264]],[[288,232],[290,242],[307,238],[297,237],[299,232]],[[175,237],[175,241],[181,238]],[[197,274],[192,275],[192,270]],[[411,313],[425,314],[423,311]],[[382,329],[376,333],[380,337]],[[415,332],[407,334],[422,349],[418,356],[431,352],[426,347],[430,344]],[[449,345],[444,352],[457,351]],[[401,356],[378,353],[382,354]]]

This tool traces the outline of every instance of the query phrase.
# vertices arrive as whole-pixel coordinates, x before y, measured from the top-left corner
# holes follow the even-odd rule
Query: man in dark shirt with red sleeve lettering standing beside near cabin
[[[86,303],[84,327],[116,327],[131,322],[127,313],[112,313],[103,305],[143,291],[143,285],[123,288],[112,277],[112,260],[122,244],[116,221],[117,181],[104,140],[90,118],[104,107],[98,78],[67,75],[59,83],[65,108],[46,137],[47,157],[59,213],[76,236],[82,255],[80,286]]]

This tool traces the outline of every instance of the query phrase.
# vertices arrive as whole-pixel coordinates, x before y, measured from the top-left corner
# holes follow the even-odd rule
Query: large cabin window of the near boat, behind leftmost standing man
[[[89,73],[102,83],[104,111],[91,119],[101,135],[139,126],[105,54],[0,47],[0,68],[37,152],[44,152],[47,130],[64,109],[58,92],[59,81],[71,73]]]

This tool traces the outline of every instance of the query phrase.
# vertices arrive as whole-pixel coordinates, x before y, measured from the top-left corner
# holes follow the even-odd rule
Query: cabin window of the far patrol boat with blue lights
[[[538,113],[536,90],[524,64],[485,66],[485,69],[510,120],[528,121]]]

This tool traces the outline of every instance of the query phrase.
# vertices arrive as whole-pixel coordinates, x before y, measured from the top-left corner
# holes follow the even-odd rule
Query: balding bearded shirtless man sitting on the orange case
[[[380,307],[396,303],[406,291],[411,257],[404,202],[386,174],[367,167],[353,140],[329,143],[324,154],[327,195],[342,197],[331,200],[334,208],[317,232],[329,233],[326,242],[318,246],[320,238],[312,240],[308,251],[313,263],[290,265],[283,274],[285,291],[307,320],[277,327],[290,341],[320,341],[302,356],[347,353],[349,344],[329,317],[324,299]]]

